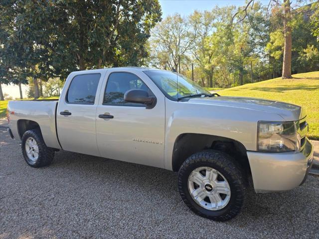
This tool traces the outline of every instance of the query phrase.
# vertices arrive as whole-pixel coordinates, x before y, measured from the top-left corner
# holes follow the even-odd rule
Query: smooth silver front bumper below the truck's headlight
[[[254,189],[257,193],[286,191],[306,181],[314,158],[314,147],[307,137],[300,152],[247,151]]]

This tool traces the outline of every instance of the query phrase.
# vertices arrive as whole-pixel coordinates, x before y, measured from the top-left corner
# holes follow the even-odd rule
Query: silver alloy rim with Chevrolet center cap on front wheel
[[[188,191],[193,200],[207,210],[220,210],[230,199],[230,186],[216,169],[199,167],[188,177]]]

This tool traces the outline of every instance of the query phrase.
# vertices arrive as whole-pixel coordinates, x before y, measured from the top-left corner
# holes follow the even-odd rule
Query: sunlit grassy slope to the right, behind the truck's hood
[[[319,71],[275,78],[219,91],[222,96],[244,96],[283,101],[306,108],[308,136],[319,140]]]

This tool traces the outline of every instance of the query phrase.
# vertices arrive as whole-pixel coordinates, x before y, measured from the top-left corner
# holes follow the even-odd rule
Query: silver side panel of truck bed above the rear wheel
[[[61,148],[56,134],[56,109],[58,100],[9,101],[9,126],[15,138],[21,138],[19,128],[25,120],[39,124],[45,144]]]

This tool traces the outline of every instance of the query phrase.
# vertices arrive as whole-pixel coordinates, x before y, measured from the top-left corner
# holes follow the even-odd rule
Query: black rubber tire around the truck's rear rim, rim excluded
[[[39,153],[36,160],[31,160],[28,157],[26,149],[25,149],[25,143],[29,137],[33,138],[33,140],[36,141],[36,144],[38,146]],[[22,148],[22,154],[23,154],[24,160],[29,166],[34,168],[39,168],[39,167],[49,165],[52,162],[54,157],[54,150],[45,145],[41,131],[38,128],[30,129],[24,132],[22,136],[21,148]]]

